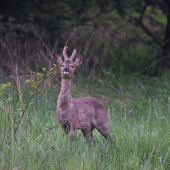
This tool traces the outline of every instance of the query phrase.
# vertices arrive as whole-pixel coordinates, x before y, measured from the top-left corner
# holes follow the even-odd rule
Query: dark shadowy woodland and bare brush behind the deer
[[[85,71],[156,76],[170,69],[169,0],[1,0],[0,69],[33,75],[54,51],[84,53]]]

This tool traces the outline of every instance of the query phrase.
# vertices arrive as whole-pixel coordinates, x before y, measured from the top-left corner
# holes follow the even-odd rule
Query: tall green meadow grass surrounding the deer
[[[93,85],[85,80],[73,83],[73,97],[96,97],[109,111],[108,124],[115,143],[111,144],[95,130],[94,148],[89,147],[80,131],[74,143],[69,142],[60,127],[47,131],[57,124],[59,86],[56,91],[49,88],[44,93],[25,128],[33,106],[27,109],[15,136],[13,119],[18,120],[20,113],[16,111],[18,94],[13,90],[12,121],[11,115],[8,121],[8,116],[0,110],[0,169],[170,169],[169,80],[166,73],[157,78],[130,78],[129,82],[121,79],[118,82],[95,81]],[[104,83],[114,85],[123,95]],[[25,102],[29,100],[29,91],[30,88],[22,89]],[[3,100],[0,105],[8,111]]]

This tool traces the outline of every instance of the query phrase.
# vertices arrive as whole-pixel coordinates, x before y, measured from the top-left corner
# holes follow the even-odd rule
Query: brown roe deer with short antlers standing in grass
[[[75,68],[83,61],[83,54],[79,55],[73,62],[76,55],[74,49],[70,58],[67,57],[67,46],[63,49],[62,57],[55,53],[55,62],[61,66],[61,91],[57,101],[57,121],[62,125],[62,129],[69,133],[70,140],[74,141],[77,129],[81,129],[85,139],[91,145],[93,140],[92,131],[97,128],[105,138],[113,142],[110,130],[107,124],[108,113],[106,108],[95,98],[82,97],[72,98],[70,95],[71,78]]]

